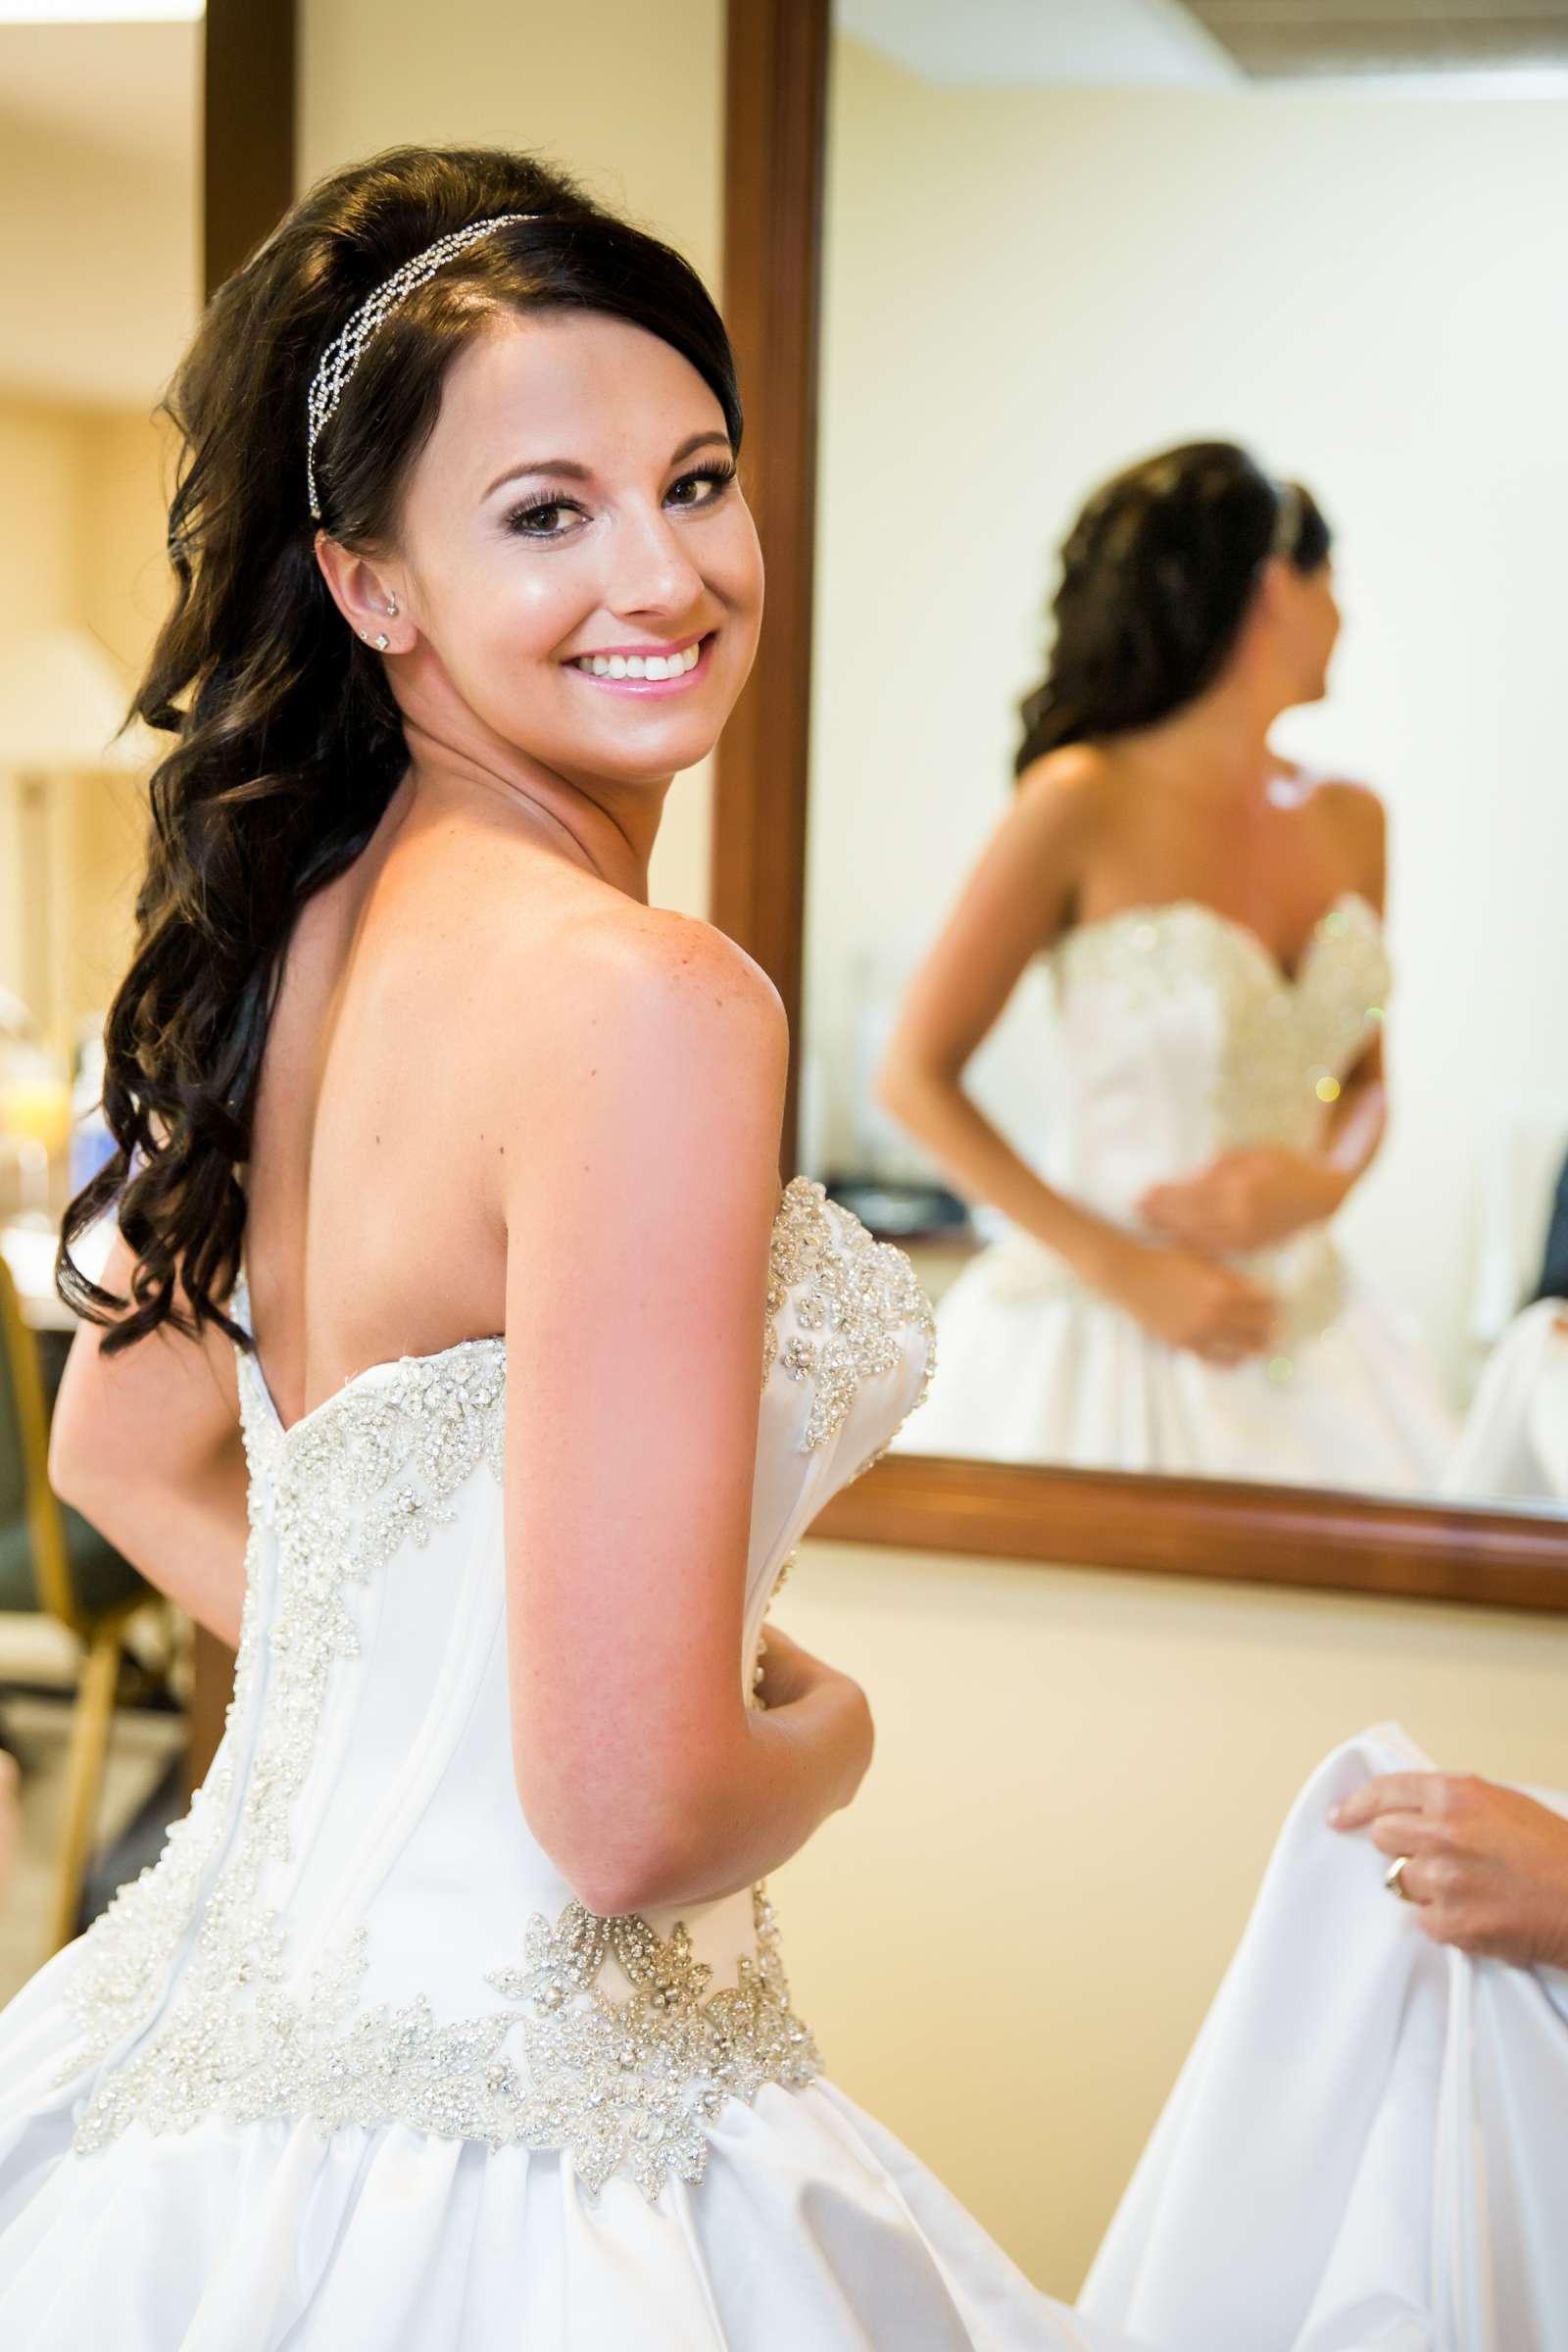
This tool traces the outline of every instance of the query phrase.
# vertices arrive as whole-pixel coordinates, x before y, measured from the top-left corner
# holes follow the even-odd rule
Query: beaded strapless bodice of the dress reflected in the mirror
[[[1138,1230],[1138,1202],[1157,1183],[1253,1145],[1309,1150],[1378,1035],[1389,978],[1378,913],[1354,891],[1319,920],[1293,974],[1197,898],[1079,924],[1051,953],[1046,1181]],[[1253,1268],[1295,1338],[1338,1312],[1342,1272],[1326,1232]],[[999,1244],[992,1279],[1009,1296],[1072,1282],[1023,1232]]]

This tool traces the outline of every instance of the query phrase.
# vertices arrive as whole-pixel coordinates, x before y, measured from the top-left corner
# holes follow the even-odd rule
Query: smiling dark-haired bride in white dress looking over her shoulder
[[[769,981],[646,906],[762,614],[719,318],[555,172],[404,148],[172,412],[52,1472],[237,1675],[0,2016],[0,2340],[1121,2343],[835,2089],[762,1886],[872,1748],[762,1616],[931,1315],[780,1197]]]

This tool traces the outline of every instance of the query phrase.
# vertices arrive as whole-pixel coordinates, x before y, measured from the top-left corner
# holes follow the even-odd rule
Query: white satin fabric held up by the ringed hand
[[[1429,1764],[1380,1724],[1302,1790],[1084,2286],[1095,2319],[1164,2352],[1568,2345],[1568,1973],[1429,1943],[1324,1818]]]

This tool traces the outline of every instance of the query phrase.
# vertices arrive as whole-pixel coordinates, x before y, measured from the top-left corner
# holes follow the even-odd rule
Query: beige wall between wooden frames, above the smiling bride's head
[[[639,0],[592,9],[454,0],[433,38],[421,0],[303,0],[301,186],[397,141],[520,146],[588,181],[719,282],[719,0],[672,19]],[[710,767],[677,779],[651,896],[708,903]]]

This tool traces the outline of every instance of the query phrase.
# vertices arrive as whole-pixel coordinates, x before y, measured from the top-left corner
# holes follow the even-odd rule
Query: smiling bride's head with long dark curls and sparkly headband
[[[741,400],[701,280],[529,158],[393,151],[327,181],[219,292],[172,412],[188,449],[169,524],[181,597],[139,710],[176,729],[153,779],[160,840],[188,840],[209,809],[214,946],[186,974],[158,910],[188,889],[186,851],[169,851],[106,1037],[120,1157],[63,1225],[63,1291],[106,1319],[113,1301],[68,1247],[125,1185],[136,1296],[108,1352],[172,1315],[176,1268],[197,1312],[233,1279],[244,1204],[219,1138],[252,1117],[270,971],[303,901],[386,816],[409,741],[451,746],[463,713],[480,755],[515,762],[527,746],[536,779],[595,774],[602,823],[625,837],[625,795],[656,823],[670,776],[712,748],[762,607],[733,487]],[[522,430],[567,461],[534,470],[527,496],[517,459],[496,466]],[[696,452],[717,456],[691,468]],[[329,597],[348,628],[329,623]],[[219,630],[240,633],[233,661]],[[689,644],[701,661],[684,689],[665,670],[649,691],[649,652],[668,663]],[[642,691],[583,701],[581,656],[607,659],[609,687],[630,649]],[[219,800],[233,774],[244,800]],[[174,1096],[146,1058],[150,1002],[165,1054],[181,1054],[186,1021],[230,1033],[230,1065],[197,1080],[216,1124],[186,1117],[165,1138]]]

